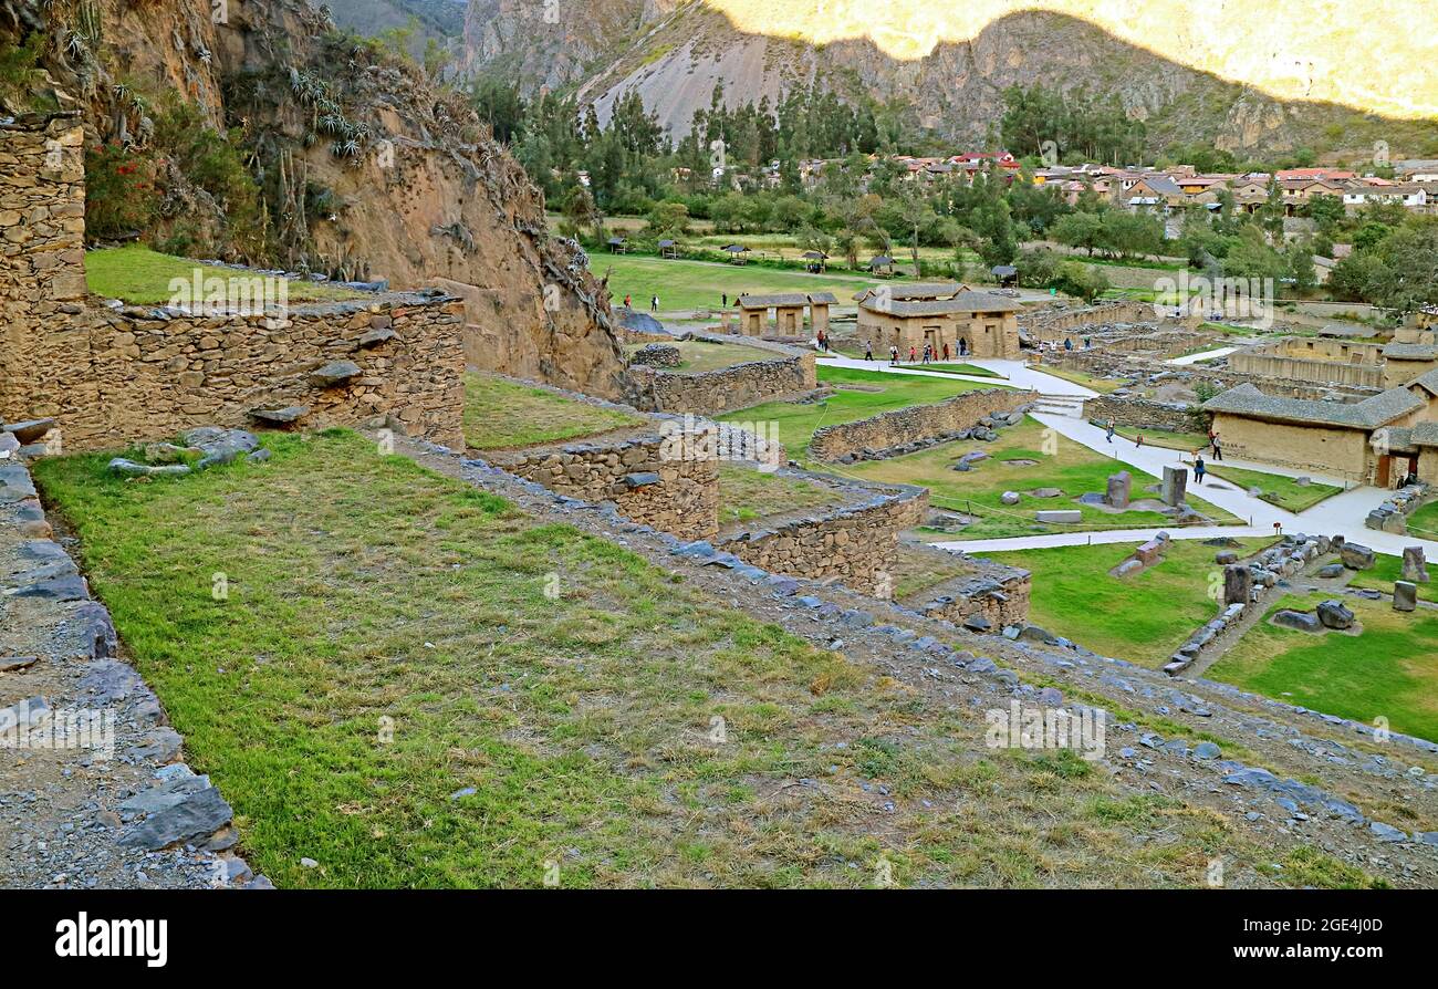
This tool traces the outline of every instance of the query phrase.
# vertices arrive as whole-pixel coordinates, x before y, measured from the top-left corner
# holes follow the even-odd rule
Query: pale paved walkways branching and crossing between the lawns
[[[1078,395],[1084,398],[1093,398],[1097,395],[1096,391],[1084,388],[1083,385],[1076,385],[1071,381],[1064,381],[1051,374],[1045,374],[1032,367],[1028,367],[1022,361],[999,361],[989,358],[953,358],[955,361],[963,364],[972,364],[981,367],[986,371],[994,371],[995,374],[1004,375],[1005,384],[1018,388],[1031,388],[1044,395]],[[887,361],[863,361],[847,356],[834,356],[824,361],[825,364],[834,364],[847,368],[863,368],[869,371],[881,371],[884,374],[917,374],[925,377],[940,377],[940,378],[958,378],[961,381],[975,381],[979,384],[997,384],[994,378],[984,378],[976,375],[955,375],[943,374],[939,371],[925,371],[922,367],[916,365],[899,365],[890,367]],[[1045,413],[1030,413],[1034,420],[1055,430],[1060,436],[1080,443],[1090,450],[1096,450],[1107,457],[1142,470],[1153,477],[1163,477],[1163,467],[1173,466],[1191,466],[1194,456],[1192,453],[1185,453],[1182,450],[1169,450],[1166,447],[1143,446],[1139,447],[1132,440],[1126,440],[1120,436],[1114,436],[1113,441],[1109,443],[1104,430],[1097,426],[1090,424],[1087,420],[1073,418],[1070,415],[1053,415]],[[1245,470],[1261,470],[1270,474],[1281,474],[1286,477],[1311,477],[1320,484],[1334,484],[1340,487],[1347,487],[1352,482],[1343,482],[1339,477],[1326,477],[1317,473],[1304,473],[1299,470],[1291,470],[1287,467],[1277,467],[1274,464],[1252,463],[1245,460],[1224,460],[1221,461],[1229,467],[1241,467]],[[1214,539],[1217,536],[1264,536],[1274,533],[1274,523],[1278,523],[1286,533],[1294,532],[1309,532],[1322,533],[1327,536],[1342,535],[1353,542],[1363,543],[1365,546],[1372,546],[1380,553],[1391,556],[1401,556],[1403,546],[1424,546],[1429,558],[1438,556],[1438,540],[1419,539],[1411,535],[1395,535],[1389,532],[1378,532],[1375,529],[1368,529],[1363,526],[1363,519],[1375,507],[1382,505],[1388,497],[1388,492],[1378,487],[1349,487],[1349,490],[1342,494],[1334,494],[1319,505],[1307,509],[1301,515],[1294,515],[1280,509],[1276,505],[1270,505],[1263,499],[1254,497],[1242,487],[1225,482],[1212,474],[1208,476],[1205,483],[1194,483],[1192,474],[1189,474],[1191,494],[1195,494],[1209,505],[1215,505],[1240,519],[1244,519],[1248,525],[1245,526],[1198,526],[1189,529],[1166,529],[1169,535],[1175,539]],[[958,539],[936,542],[935,545],[945,549],[963,549],[966,552],[979,551],[1004,551],[1004,549],[1038,549],[1045,546],[1086,546],[1090,543],[1119,543],[1119,542],[1142,542],[1150,539],[1155,532],[1159,532],[1163,526],[1156,526],[1152,529],[1114,529],[1109,532],[1058,532],[1058,533],[1044,533],[1032,536],[1015,536],[1012,539]]]

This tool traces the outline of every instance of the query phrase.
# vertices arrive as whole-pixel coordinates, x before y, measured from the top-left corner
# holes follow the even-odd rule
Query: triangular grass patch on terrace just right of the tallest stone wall
[[[574,440],[644,421],[499,375],[464,375],[464,441],[476,450]]]

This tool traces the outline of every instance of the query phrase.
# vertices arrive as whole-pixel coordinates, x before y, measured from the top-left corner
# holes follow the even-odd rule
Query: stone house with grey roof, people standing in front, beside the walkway
[[[932,283],[867,289],[854,296],[858,302],[858,339],[876,351],[897,346],[922,351],[925,344],[935,354],[949,345],[951,355],[1017,359],[1018,312],[1022,305],[991,292],[975,292],[966,285]]]

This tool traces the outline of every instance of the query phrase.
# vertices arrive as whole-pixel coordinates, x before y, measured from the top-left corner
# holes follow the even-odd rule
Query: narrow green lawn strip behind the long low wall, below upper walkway
[[[963,391],[999,388],[999,384],[959,381],[946,378],[925,378],[916,374],[887,374],[883,371],[858,371],[817,365],[821,384],[860,385],[864,391],[837,391],[817,402],[765,402],[720,415],[733,423],[774,421],[778,423],[779,441],[794,460],[804,460],[810,437],[821,426],[853,423],[879,413],[889,413],[906,405],[925,405],[952,398]]]

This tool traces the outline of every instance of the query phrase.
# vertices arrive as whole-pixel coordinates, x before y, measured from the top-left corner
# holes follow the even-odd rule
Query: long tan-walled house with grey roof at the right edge
[[[1415,427],[1438,423],[1438,371],[1352,404],[1265,395],[1242,384],[1209,398],[1204,411],[1234,459],[1379,487],[1438,470],[1424,461],[1424,448],[1411,446]],[[1426,456],[1438,459],[1438,450]]]

